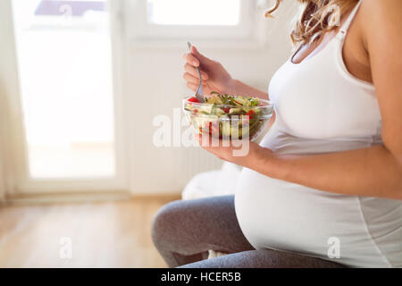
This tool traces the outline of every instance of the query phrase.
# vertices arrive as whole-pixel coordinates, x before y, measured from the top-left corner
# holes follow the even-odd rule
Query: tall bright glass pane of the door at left
[[[35,179],[115,172],[111,44],[105,1],[13,0]]]

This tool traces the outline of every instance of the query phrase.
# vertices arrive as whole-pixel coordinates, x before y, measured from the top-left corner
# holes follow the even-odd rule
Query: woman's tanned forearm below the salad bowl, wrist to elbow
[[[256,153],[254,160],[249,157],[251,169],[275,179],[338,194],[402,200],[402,162],[387,147],[317,156]]]

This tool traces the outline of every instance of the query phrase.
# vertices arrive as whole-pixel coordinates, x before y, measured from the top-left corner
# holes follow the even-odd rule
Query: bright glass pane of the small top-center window
[[[158,25],[235,26],[240,0],[147,0],[147,11]]]

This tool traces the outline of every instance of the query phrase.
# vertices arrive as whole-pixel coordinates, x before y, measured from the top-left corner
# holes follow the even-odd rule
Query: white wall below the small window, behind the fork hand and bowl
[[[225,49],[211,43],[197,43],[202,53],[219,60],[233,78],[266,90],[273,73],[291,51],[289,20],[295,13],[294,1],[285,1],[275,20],[269,23],[269,44],[263,49]],[[263,15],[261,15],[263,17]],[[216,169],[221,162],[200,148],[163,147],[152,143],[155,115],[172,117],[172,108],[190,92],[182,80],[183,40],[180,48],[171,46],[128,46],[126,90],[130,114],[130,190],[133,193],[180,191],[197,172]]]

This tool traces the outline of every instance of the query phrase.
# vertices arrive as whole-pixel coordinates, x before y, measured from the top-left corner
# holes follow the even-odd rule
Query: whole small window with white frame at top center
[[[255,10],[255,0],[130,0],[126,27],[138,41],[249,39]]]

